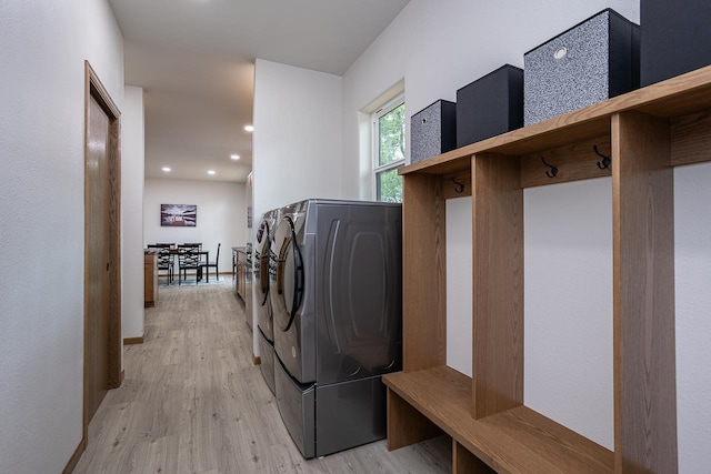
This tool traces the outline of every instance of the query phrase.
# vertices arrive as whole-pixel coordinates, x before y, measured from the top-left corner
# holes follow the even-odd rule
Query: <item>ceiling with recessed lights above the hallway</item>
[[[343,74],[408,2],[109,0],[144,90],[146,177],[244,181],[254,58]]]

